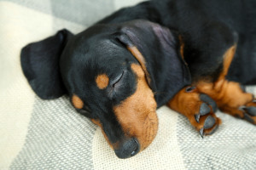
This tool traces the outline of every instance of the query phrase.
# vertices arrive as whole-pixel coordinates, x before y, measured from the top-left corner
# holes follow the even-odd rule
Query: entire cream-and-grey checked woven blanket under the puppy
[[[186,117],[164,106],[153,143],[120,160],[67,96],[42,100],[32,92],[20,68],[22,47],[62,28],[83,31],[140,1],[0,0],[0,169],[256,168],[256,127],[221,112],[218,131],[201,139]],[[255,87],[247,90],[256,94]]]

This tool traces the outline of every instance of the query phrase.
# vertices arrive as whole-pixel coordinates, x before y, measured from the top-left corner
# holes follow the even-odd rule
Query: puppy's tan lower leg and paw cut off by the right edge
[[[225,78],[235,52],[236,45],[225,52],[223,71],[216,82],[198,82],[197,89],[211,96],[217,102],[220,111],[256,124],[256,99],[253,94],[247,94],[238,82],[229,82]]]

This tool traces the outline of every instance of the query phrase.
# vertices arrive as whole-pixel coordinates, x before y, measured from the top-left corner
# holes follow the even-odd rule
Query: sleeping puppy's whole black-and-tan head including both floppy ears
[[[189,83],[178,47],[168,29],[135,20],[77,35],[58,31],[23,48],[21,65],[40,98],[68,94],[102,128],[115,154],[128,158],[153,141],[156,108]]]

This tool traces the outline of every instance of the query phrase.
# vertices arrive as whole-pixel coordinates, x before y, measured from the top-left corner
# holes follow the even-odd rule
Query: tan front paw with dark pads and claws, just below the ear
[[[221,120],[215,116],[217,105],[207,94],[201,94],[197,88],[186,87],[180,90],[167,105],[188,117],[189,122],[203,135],[212,134]]]

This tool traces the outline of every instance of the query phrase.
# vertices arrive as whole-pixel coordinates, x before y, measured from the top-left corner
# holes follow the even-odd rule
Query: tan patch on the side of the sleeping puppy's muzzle
[[[137,75],[137,90],[113,111],[125,136],[137,138],[142,151],[152,143],[158,130],[157,105],[142,67],[131,65],[131,69]]]

